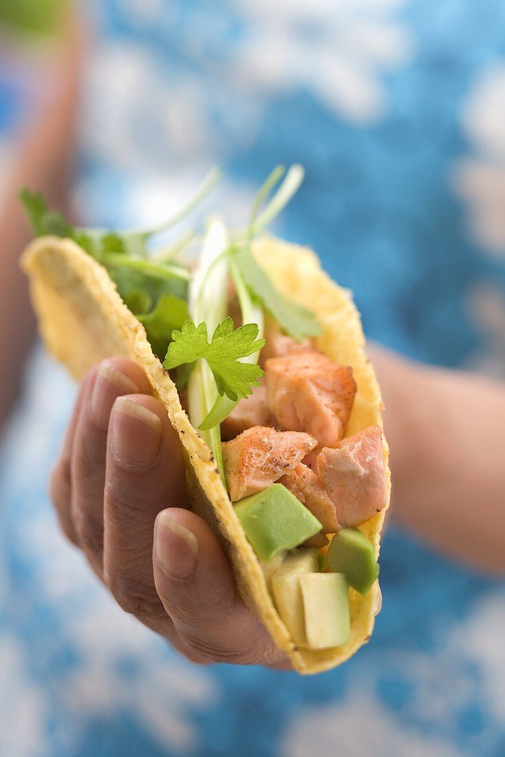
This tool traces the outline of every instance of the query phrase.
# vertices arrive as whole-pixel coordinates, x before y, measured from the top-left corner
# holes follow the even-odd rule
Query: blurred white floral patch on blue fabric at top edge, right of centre
[[[381,73],[413,55],[410,32],[394,18],[404,4],[235,0],[252,22],[236,76],[255,93],[306,87],[338,117],[374,122],[385,110]]]

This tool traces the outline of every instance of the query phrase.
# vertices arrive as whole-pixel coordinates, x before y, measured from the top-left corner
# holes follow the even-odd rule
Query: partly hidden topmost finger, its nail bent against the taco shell
[[[104,543],[104,484],[107,433],[114,400],[134,392],[151,394],[140,366],[110,358],[95,370],[75,430],[71,476],[71,511],[79,545],[101,575]]]

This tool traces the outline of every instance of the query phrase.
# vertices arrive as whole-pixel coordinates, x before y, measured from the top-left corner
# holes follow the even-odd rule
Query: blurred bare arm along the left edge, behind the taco
[[[15,148],[14,170],[0,207],[0,354],[9,356],[8,371],[0,371],[0,425],[16,397],[35,330],[26,278],[19,269],[20,252],[32,234],[17,195],[27,185],[41,191],[52,206],[67,204],[80,46],[76,30],[70,28],[55,51],[42,97]]]

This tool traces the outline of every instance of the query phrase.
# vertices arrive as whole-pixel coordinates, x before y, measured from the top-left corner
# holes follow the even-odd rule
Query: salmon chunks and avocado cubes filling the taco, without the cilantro
[[[229,497],[295,642],[338,646],[351,632],[348,586],[365,595],[377,577],[357,527],[387,502],[382,430],[345,436],[351,367],[275,324],[265,340],[260,385],[222,424]]]

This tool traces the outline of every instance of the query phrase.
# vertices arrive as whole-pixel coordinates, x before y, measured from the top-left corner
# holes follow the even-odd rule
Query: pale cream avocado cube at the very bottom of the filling
[[[341,646],[351,635],[348,582],[341,573],[307,573],[299,578],[305,634],[310,650]]]

